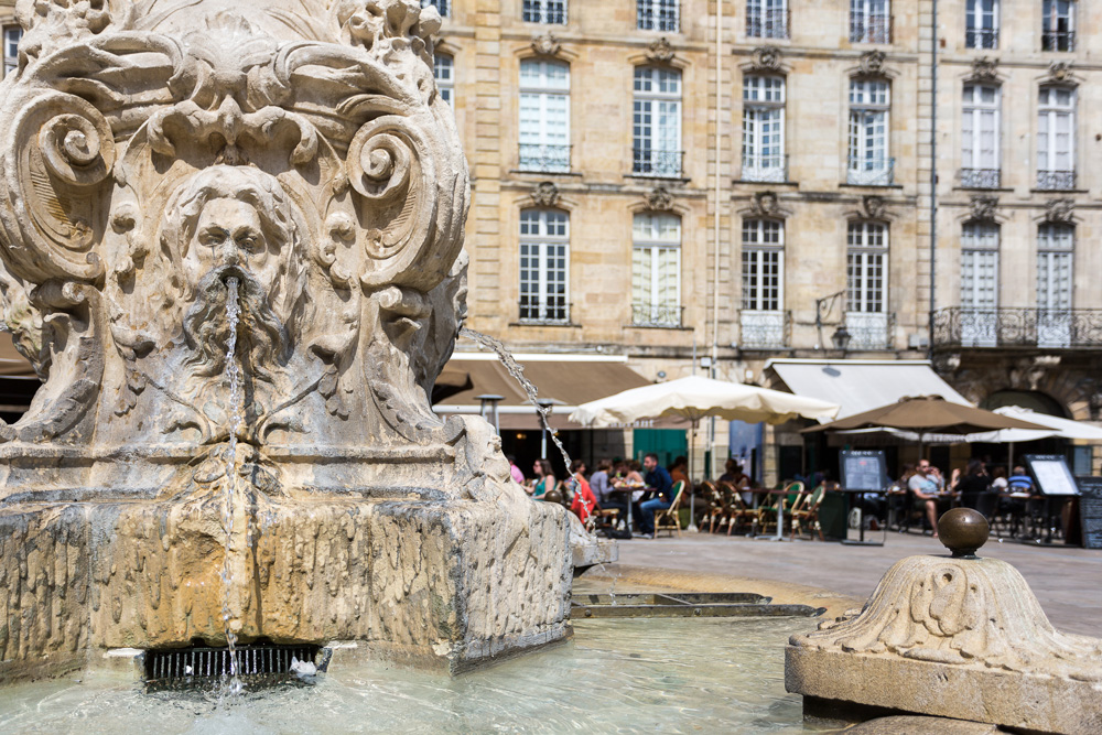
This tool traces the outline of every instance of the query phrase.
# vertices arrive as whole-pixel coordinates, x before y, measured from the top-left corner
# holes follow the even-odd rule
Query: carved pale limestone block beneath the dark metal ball
[[[1102,639],[1052,628],[995,559],[904,559],[863,609],[789,644],[785,685],[817,705],[1102,732]]]

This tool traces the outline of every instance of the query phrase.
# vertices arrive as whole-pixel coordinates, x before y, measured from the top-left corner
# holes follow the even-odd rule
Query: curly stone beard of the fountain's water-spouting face
[[[195,289],[195,303],[184,316],[184,338],[190,355],[184,365],[196,378],[222,377],[226,371],[229,346],[229,318],[226,313],[229,288],[237,278],[241,310],[237,328],[237,355],[246,375],[271,382],[272,368],[285,366],[291,341],[287,326],[277,316],[260,281],[239,267],[215,268]],[[204,381],[209,382],[209,381]]]

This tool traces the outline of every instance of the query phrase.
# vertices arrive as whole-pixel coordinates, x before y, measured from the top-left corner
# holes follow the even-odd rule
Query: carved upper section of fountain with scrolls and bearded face
[[[428,391],[462,322],[469,190],[435,10],[53,0],[19,17],[0,293],[46,385],[0,441],[225,442],[233,277],[251,450],[454,442]]]

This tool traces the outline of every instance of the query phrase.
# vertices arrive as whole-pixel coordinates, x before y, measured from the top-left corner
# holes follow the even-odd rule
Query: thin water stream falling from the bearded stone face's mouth
[[[234,543],[234,491],[237,486],[237,430],[241,425],[241,371],[237,367],[237,326],[241,318],[241,304],[237,293],[236,278],[226,280],[226,322],[229,326],[229,338],[226,342],[226,377],[229,380],[229,446],[226,450],[226,504],[223,508],[222,525],[226,532],[226,553],[222,566],[222,583],[224,588],[222,618],[226,626],[226,644],[229,647],[229,683],[228,694],[238,694],[244,689],[237,677],[237,635],[233,630],[233,610],[230,609],[230,591],[234,584],[233,543]]]

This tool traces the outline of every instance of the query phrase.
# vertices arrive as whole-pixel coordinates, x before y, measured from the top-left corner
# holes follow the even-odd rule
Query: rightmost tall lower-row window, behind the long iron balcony
[[[1071,344],[1071,273],[1076,228],[1045,223],[1037,229],[1037,345]]]

